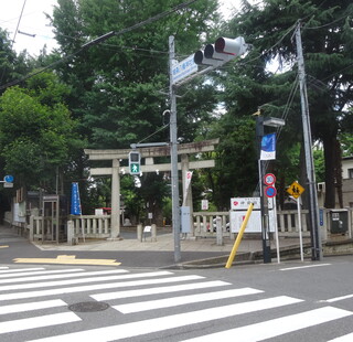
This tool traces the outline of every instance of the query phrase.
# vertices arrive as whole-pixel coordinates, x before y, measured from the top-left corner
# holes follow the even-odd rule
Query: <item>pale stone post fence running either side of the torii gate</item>
[[[340,210],[338,210],[340,211]],[[346,210],[347,223],[346,229],[342,231],[341,235],[352,237],[353,211]],[[221,217],[216,220],[217,217]],[[218,232],[222,232],[223,237],[235,238],[235,233],[231,232],[229,212],[194,212],[194,227],[190,234],[195,237],[216,237],[216,222],[218,221]],[[30,224],[26,226],[30,239],[45,241],[47,234],[47,217],[31,216]],[[301,212],[302,236],[309,237],[308,211]],[[334,221],[331,210],[320,210],[320,228],[321,237],[327,241],[332,235],[332,222]],[[279,237],[297,237],[299,234],[297,211],[280,211],[277,212],[277,226]],[[110,215],[82,215],[69,216],[66,224],[61,224],[62,229],[67,236],[67,242],[73,243],[73,239],[81,238],[107,238],[110,237]],[[246,233],[246,231],[245,231]],[[220,234],[220,233],[218,233]],[[247,233],[252,235],[253,233]]]

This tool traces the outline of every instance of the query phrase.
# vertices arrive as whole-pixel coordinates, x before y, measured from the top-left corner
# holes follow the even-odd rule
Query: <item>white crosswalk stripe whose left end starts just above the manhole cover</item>
[[[203,282],[195,282],[195,284],[156,287],[150,289],[138,289],[138,290],[90,295],[90,298],[101,301],[101,300],[108,300],[108,299],[121,299],[121,298],[170,293],[170,292],[179,292],[179,291],[188,291],[188,290],[200,290],[200,289],[207,289],[207,288],[228,286],[228,285],[231,285],[231,282],[225,282],[222,280],[213,280],[213,281],[203,281]]]

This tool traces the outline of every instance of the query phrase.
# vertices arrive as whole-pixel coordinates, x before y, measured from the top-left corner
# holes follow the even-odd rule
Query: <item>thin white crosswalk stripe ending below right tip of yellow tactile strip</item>
[[[32,280],[49,280],[49,279],[64,279],[64,278],[78,278],[78,277],[88,277],[88,276],[100,276],[100,275],[110,275],[110,274],[126,274],[128,272],[127,270],[124,269],[109,269],[109,270],[97,270],[97,271],[86,271],[83,272],[83,269],[79,270],[79,272],[73,272],[69,270],[69,274],[63,274],[61,272],[60,275],[44,275],[44,276],[32,276],[31,277],[22,277],[22,278],[11,278],[11,279],[0,279],[0,287],[1,284],[9,284],[9,282],[28,282]],[[51,272],[51,271],[49,271]],[[54,274],[58,274],[60,271],[53,271]]]

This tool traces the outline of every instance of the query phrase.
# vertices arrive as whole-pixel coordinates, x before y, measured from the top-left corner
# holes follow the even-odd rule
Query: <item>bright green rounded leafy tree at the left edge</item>
[[[54,191],[57,169],[82,147],[63,96],[67,88],[54,74],[30,78],[29,88],[7,89],[0,97],[0,154],[19,185]]]

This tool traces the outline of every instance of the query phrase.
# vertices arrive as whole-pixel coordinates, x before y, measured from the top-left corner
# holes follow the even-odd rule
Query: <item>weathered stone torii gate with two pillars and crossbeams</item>
[[[181,143],[178,146],[178,154],[181,156],[181,162],[178,162],[178,170],[182,170],[183,193],[185,192],[186,171],[194,169],[214,168],[214,160],[189,161],[189,154],[214,151],[214,146],[220,142],[218,139],[204,140],[200,142]],[[129,173],[128,167],[120,167],[120,161],[129,158],[131,149],[122,150],[90,150],[85,149],[89,160],[111,160],[111,168],[92,168],[90,175],[111,175],[111,238],[120,234],[120,173]],[[141,172],[170,171],[170,163],[154,164],[153,158],[170,156],[170,147],[147,147],[137,148],[145,164],[141,164]],[[191,209],[192,216],[192,196],[191,186],[189,188],[186,205]],[[193,226],[191,227],[193,233]]]

